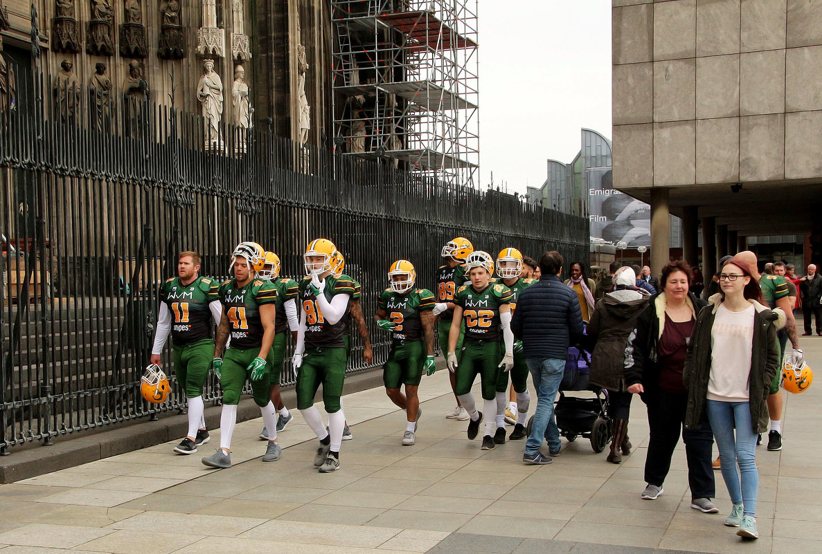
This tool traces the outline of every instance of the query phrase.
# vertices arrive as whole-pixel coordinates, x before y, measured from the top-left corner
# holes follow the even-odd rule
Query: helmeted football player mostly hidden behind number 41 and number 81
[[[296,341],[297,327],[299,319],[297,317],[297,282],[284,277],[279,278],[279,256],[274,252],[266,252],[266,263],[263,264],[261,272],[257,277],[274,283],[277,288],[276,315],[274,326],[274,342],[268,355],[268,366],[270,368],[271,379],[271,401],[277,410],[277,433],[284,430],[285,426],[294,418],[285,407],[283,396],[279,391],[279,378],[283,372],[283,362],[285,359],[285,346],[288,342],[289,332]],[[262,440],[268,440],[268,429],[262,428],[260,433]]]

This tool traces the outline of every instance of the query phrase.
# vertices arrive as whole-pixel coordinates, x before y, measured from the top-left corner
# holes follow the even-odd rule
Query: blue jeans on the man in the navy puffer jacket
[[[565,360],[528,358],[525,361],[533,378],[533,387],[537,390],[537,411],[533,414],[531,433],[525,442],[525,454],[538,452],[539,447],[543,446],[543,437],[550,451],[559,451],[560,431],[556,428],[554,401],[562,382],[562,373],[565,372]]]

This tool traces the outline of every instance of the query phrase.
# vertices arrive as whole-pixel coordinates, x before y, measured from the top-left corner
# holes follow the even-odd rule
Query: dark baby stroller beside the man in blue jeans
[[[565,375],[560,383],[560,397],[554,405],[556,427],[568,442],[576,437],[591,441],[594,452],[602,452],[611,441],[611,418],[608,415],[608,391],[589,384],[591,355],[581,346],[568,349]],[[593,398],[567,396],[566,391],[592,391]],[[531,433],[533,416],[528,420]]]

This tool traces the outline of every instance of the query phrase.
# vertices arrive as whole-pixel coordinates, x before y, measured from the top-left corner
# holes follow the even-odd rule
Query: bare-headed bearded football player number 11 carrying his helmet
[[[174,451],[194,454],[197,446],[209,442],[203,412],[203,385],[214,352],[214,324],[219,324],[223,309],[219,304],[219,284],[209,277],[199,277],[200,254],[181,252],[177,277],[164,282],[160,290],[159,315],[151,364],[160,364],[160,352],[171,333],[174,373],[186,394],[188,433]]]

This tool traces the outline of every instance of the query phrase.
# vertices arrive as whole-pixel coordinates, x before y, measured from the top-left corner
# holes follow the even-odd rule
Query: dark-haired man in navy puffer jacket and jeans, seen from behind
[[[522,460],[525,464],[550,464],[539,447],[543,437],[552,456],[560,453],[560,433],[554,419],[554,400],[565,371],[568,346],[580,341],[583,334],[580,302],[573,289],[562,284],[562,256],[552,250],[539,260],[543,276],[520,292],[511,328],[522,340],[525,360],[537,390],[537,411],[533,414],[531,433],[525,442]]]

